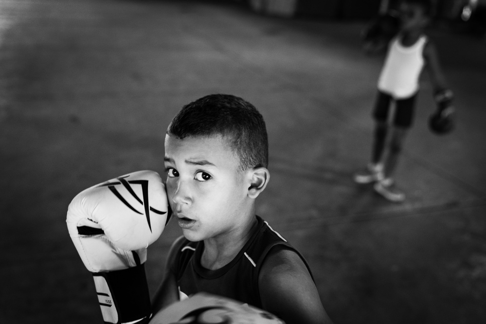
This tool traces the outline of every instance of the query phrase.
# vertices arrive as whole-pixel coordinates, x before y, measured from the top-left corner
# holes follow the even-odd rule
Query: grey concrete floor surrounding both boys
[[[163,172],[174,114],[231,93],[264,115],[258,214],[309,262],[336,324],[486,323],[486,42],[431,30],[458,109],[427,129],[423,77],[397,172],[403,204],[357,186],[382,57],[362,22],[258,16],[228,1],[0,0],[0,323],[101,323],[65,217],[81,190]],[[169,224],[149,247],[150,291]]]

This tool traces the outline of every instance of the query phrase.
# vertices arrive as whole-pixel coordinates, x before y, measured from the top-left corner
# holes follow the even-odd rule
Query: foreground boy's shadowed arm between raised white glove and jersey
[[[152,301],[152,314],[156,314],[162,308],[165,308],[177,301],[179,301],[179,288],[177,287],[177,277],[174,273],[174,265],[176,264],[177,253],[180,250],[180,244],[184,236],[179,237],[174,241],[167,256],[167,263],[162,278],[162,283],[155,293]]]

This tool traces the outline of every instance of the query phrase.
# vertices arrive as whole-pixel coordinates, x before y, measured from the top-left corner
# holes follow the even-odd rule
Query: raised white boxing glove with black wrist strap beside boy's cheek
[[[72,242],[93,274],[105,323],[148,321],[146,248],[167,224],[165,185],[154,171],[137,171],[74,197],[66,222]]]

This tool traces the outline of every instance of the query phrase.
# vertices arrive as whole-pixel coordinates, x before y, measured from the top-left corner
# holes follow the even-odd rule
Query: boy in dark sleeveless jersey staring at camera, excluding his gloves
[[[172,245],[154,313],[199,291],[287,324],[330,323],[302,255],[255,215],[270,179],[262,115],[232,95],[184,106],[165,136],[167,196],[183,236]]]

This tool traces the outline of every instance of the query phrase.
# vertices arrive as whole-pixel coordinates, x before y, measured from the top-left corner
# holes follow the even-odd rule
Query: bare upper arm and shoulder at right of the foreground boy
[[[275,246],[265,258],[258,284],[263,309],[286,324],[330,324],[316,285],[294,251]]]

